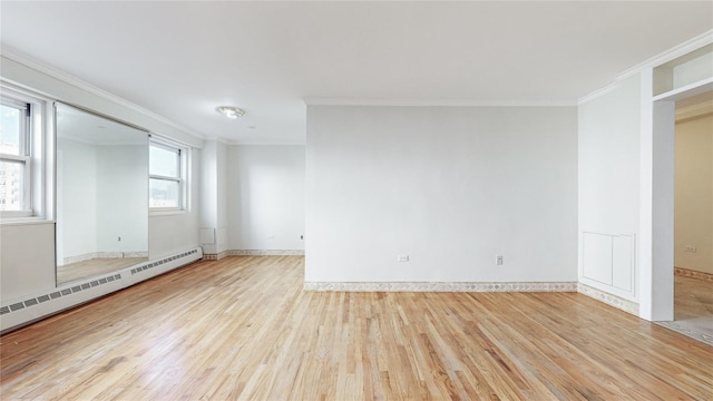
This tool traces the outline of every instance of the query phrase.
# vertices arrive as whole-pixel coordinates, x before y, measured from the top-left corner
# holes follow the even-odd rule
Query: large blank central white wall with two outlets
[[[305,281],[575,281],[576,149],[575,107],[309,106]]]

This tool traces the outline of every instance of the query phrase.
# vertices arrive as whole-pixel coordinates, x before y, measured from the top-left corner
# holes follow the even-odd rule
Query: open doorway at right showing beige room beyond
[[[713,91],[677,99],[674,316],[664,325],[713,345]]]

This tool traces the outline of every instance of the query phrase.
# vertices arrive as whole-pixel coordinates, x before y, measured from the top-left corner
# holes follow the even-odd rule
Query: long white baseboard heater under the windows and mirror
[[[201,247],[160,257],[117,272],[62,284],[0,305],[0,333],[30,324],[106,294],[129,287],[203,257]]]

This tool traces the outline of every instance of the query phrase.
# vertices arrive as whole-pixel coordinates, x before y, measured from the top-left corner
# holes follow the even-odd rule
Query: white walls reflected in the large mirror
[[[58,261],[148,252],[147,145],[57,144]]]

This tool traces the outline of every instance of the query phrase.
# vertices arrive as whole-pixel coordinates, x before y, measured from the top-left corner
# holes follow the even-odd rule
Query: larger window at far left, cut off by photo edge
[[[46,101],[2,87],[0,96],[0,216],[41,216],[42,121]]]

